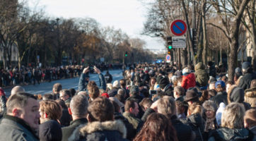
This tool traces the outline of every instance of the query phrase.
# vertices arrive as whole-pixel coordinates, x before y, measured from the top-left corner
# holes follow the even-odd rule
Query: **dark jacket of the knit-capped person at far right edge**
[[[249,89],[250,82],[254,79],[256,79],[255,73],[245,73],[245,75],[240,79],[238,87],[242,87],[243,90]]]

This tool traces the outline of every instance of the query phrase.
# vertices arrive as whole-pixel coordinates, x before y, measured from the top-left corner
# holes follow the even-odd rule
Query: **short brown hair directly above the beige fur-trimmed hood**
[[[91,121],[112,121],[114,117],[114,106],[110,99],[97,97],[88,106],[88,116]]]

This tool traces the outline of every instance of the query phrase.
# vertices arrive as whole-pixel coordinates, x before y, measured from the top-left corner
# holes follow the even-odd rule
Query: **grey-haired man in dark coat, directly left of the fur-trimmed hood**
[[[69,113],[73,121],[70,125],[62,128],[62,141],[68,140],[74,130],[79,126],[88,123],[86,119],[88,99],[83,95],[76,95],[71,99]]]

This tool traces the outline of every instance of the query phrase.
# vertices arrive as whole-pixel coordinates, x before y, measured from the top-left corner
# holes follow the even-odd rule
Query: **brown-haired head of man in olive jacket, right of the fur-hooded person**
[[[134,116],[137,116],[139,114],[139,106],[134,100],[127,99],[124,104],[124,111],[128,112],[129,114],[133,114]]]

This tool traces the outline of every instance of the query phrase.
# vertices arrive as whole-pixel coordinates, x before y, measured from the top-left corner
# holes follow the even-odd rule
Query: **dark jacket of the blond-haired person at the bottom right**
[[[253,135],[249,130],[245,128],[241,129],[229,129],[229,128],[219,128],[215,132],[211,133],[209,141],[221,140],[252,140]]]

